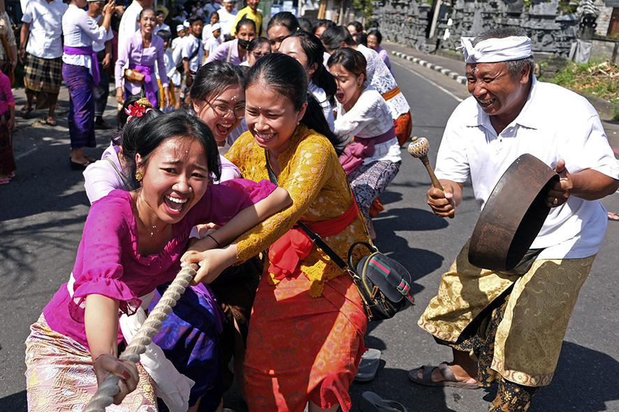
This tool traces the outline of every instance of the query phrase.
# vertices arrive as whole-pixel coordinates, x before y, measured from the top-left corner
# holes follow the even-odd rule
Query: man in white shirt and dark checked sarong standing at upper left
[[[24,65],[26,105],[24,118],[36,109],[49,107],[45,123],[56,125],[54,111],[62,82],[62,16],[67,5],[61,0],[29,0],[22,16],[20,62]]]

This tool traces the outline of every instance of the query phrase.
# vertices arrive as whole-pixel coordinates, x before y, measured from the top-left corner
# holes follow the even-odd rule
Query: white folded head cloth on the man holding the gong
[[[460,39],[465,52],[465,62],[497,63],[526,59],[531,56],[531,39],[525,36],[510,36],[506,38],[488,38],[473,46],[474,37]],[[460,47],[458,47],[460,48]]]

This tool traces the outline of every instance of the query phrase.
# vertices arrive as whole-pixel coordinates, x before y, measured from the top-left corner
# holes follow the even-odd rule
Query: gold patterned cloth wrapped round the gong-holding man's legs
[[[513,286],[497,328],[492,369],[520,385],[548,385],[595,255],[537,260],[524,275],[506,275],[472,266],[468,254],[469,242],[442,275],[438,294],[418,325],[438,339],[456,344],[469,323]]]

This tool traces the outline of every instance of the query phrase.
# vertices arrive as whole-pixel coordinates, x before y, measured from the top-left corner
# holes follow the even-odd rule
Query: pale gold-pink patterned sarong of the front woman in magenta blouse
[[[83,411],[97,390],[88,349],[54,332],[43,314],[30,326],[26,339],[26,383],[29,412]],[[156,391],[138,363],[138,388],[106,412],[156,412]]]

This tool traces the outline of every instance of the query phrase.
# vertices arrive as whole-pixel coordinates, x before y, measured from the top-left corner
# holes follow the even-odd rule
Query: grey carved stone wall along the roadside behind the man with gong
[[[574,15],[560,15],[559,0],[531,0],[527,10],[523,0],[453,0],[444,1],[439,13],[435,38],[426,38],[431,9],[425,1],[383,0],[374,3],[384,38],[424,51],[435,47],[456,49],[460,36],[474,36],[500,26],[523,27],[531,37],[534,52],[567,56],[576,37],[578,20]],[[451,23],[451,24],[449,24]],[[449,38],[443,40],[449,29]]]

